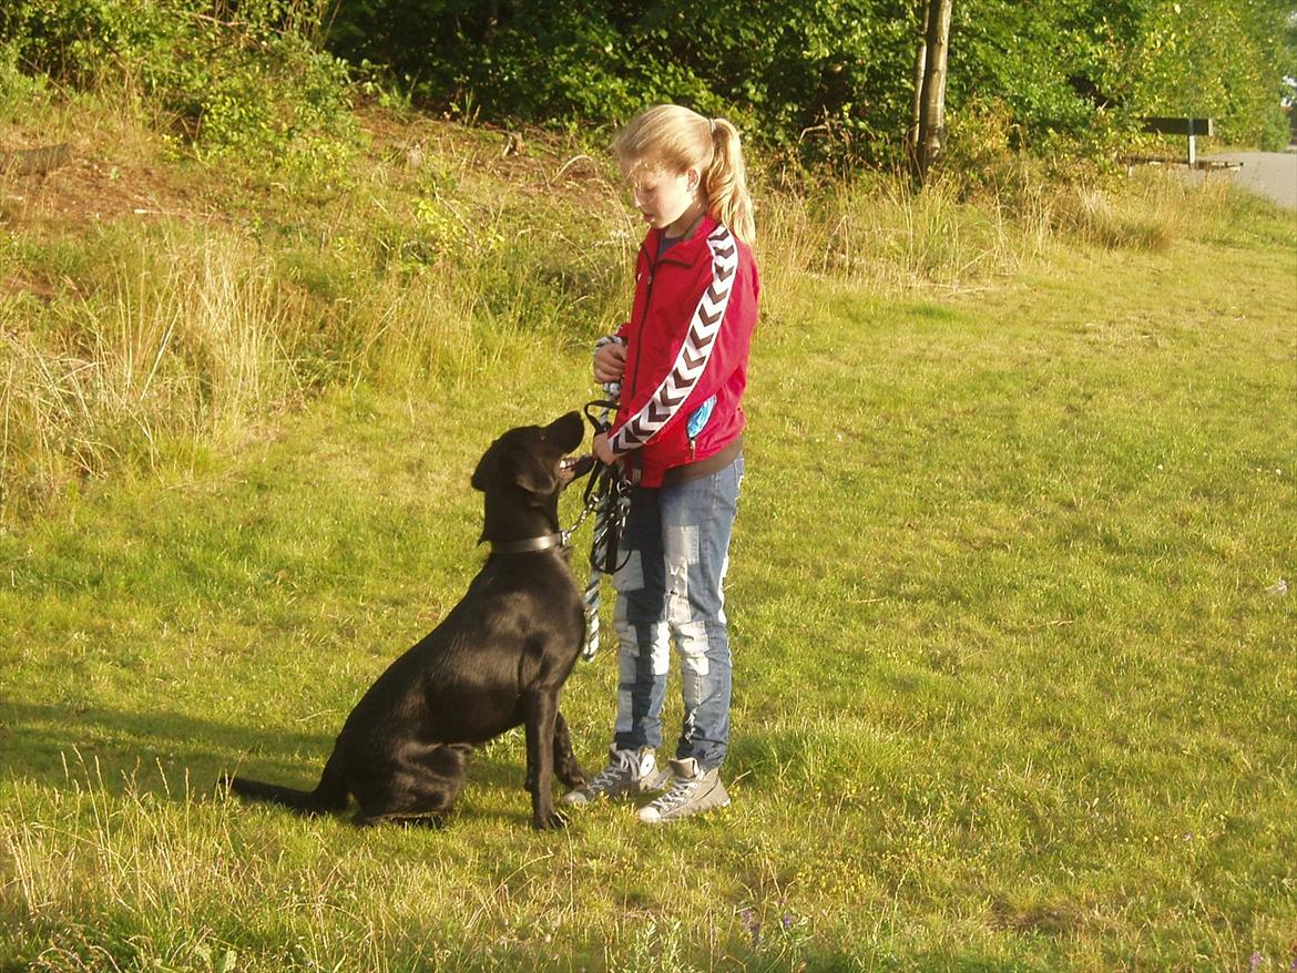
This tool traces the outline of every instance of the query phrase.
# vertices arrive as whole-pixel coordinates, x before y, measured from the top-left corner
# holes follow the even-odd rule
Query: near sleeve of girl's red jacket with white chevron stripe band
[[[608,436],[617,455],[639,449],[677,418],[687,414],[685,402],[703,402],[716,394],[747,358],[751,341],[751,307],[739,289],[739,245],[733,234],[717,226],[707,245],[712,252],[712,278],[694,309],[685,340],[667,375],[639,411]],[[755,288],[755,282],[752,282]],[[732,307],[732,304],[739,307]],[[744,314],[732,314],[743,310]],[[733,318],[728,327],[721,327]]]

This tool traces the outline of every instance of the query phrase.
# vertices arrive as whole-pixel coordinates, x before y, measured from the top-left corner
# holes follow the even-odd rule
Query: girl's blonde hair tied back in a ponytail
[[[629,178],[645,170],[696,169],[707,208],[746,244],[756,239],[752,197],[738,128],[681,105],[656,105],[630,119],[612,141],[612,154]]]

